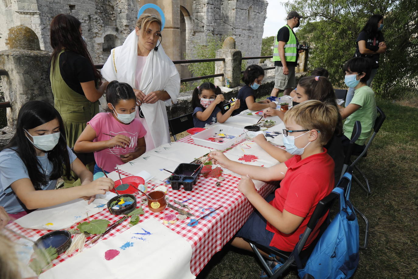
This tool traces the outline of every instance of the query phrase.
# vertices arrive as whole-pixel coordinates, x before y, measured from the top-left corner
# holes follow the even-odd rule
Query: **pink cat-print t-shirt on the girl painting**
[[[134,152],[138,146],[138,138],[143,138],[147,134],[140,120],[134,119],[129,124],[123,124],[117,121],[112,113],[98,113],[87,124],[96,132],[96,138],[93,142],[109,140],[110,136],[104,133],[112,136],[127,136],[131,140],[130,145],[126,147],[117,145],[94,152],[94,159],[96,160],[97,166],[102,166],[108,172],[114,171],[116,165],[125,164],[120,159],[120,155]]]

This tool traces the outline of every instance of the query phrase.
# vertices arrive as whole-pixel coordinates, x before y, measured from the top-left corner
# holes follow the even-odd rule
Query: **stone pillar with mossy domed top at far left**
[[[28,101],[43,100],[54,103],[49,82],[49,59],[51,54],[41,50],[39,39],[29,27],[19,25],[10,28],[9,50],[0,51],[0,69],[7,108],[7,125],[14,128],[20,107]]]

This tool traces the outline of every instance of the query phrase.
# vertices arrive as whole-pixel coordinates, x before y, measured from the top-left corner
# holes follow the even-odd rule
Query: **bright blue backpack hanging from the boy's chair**
[[[359,263],[359,224],[349,201],[351,174],[347,197],[344,189],[336,187],[332,192],[339,195],[339,213],[319,238],[303,269],[299,269],[301,278],[343,279],[350,278]],[[300,266],[298,265],[300,268]],[[305,277],[304,277],[305,276]]]

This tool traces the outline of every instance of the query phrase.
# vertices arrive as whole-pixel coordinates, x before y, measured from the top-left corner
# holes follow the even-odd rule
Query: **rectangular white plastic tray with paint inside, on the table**
[[[207,138],[213,137],[215,133],[224,133],[226,135],[235,136],[235,138],[231,138],[228,141],[225,141],[224,143],[206,140]],[[244,138],[246,134],[247,130],[243,128],[235,128],[227,125],[217,124],[212,126],[211,128],[207,128],[204,131],[194,134],[193,136],[191,136],[191,138],[193,138],[195,144],[222,150],[228,148],[229,146],[232,146],[234,143]]]

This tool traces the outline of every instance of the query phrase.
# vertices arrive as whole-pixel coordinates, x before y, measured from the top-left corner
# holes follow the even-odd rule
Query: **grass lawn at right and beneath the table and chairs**
[[[377,105],[387,118],[367,157],[358,164],[372,194],[367,196],[353,183],[350,195],[370,223],[368,248],[360,250],[353,278],[418,278],[418,108],[381,99]],[[359,224],[362,243],[361,217]],[[260,269],[251,253],[227,245],[197,278],[258,278]],[[284,278],[299,277],[291,270]]]

